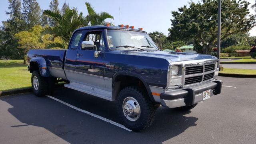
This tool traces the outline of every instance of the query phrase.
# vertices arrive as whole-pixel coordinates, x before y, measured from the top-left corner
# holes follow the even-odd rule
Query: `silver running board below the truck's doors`
[[[86,94],[90,94],[93,96],[97,96],[99,98],[103,98],[105,100],[112,101],[112,92],[102,90],[99,88],[94,88],[91,86],[86,86],[84,84],[78,84],[76,82],[70,82],[70,84],[64,84],[65,87],[71,88],[73,90],[78,90],[80,92],[84,92]]]

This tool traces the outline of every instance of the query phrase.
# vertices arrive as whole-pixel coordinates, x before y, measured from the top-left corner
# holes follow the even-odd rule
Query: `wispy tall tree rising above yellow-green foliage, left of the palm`
[[[23,19],[26,22],[26,30],[34,25],[42,23],[42,9],[36,0],[23,0]]]

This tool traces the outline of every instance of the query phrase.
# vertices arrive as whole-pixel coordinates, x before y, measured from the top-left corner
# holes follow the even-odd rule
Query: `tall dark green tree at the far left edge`
[[[14,35],[24,29],[24,21],[21,16],[21,2],[20,0],[8,0],[10,10],[6,12],[9,15],[8,20],[2,21],[1,26],[1,44],[0,56],[11,56],[13,58],[22,57],[22,52],[17,50],[17,41]]]

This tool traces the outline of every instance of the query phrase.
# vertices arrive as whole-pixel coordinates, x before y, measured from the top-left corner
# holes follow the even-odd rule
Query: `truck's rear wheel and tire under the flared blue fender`
[[[45,96],[48,92],[47,78],[40,75],[38,70],[33,71],[31,76],[31,84],[33,92],[36,96]]]

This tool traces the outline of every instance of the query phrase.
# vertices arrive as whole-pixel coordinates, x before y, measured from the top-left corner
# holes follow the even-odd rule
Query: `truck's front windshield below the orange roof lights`
[[[148,34],[144,32],[136,32],[132,30],[107,30],[107,38],[111,50],[128,48],[158,49]]]

